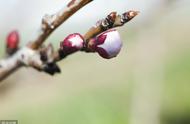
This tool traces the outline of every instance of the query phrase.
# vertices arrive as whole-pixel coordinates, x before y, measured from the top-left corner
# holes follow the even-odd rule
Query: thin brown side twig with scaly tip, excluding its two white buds
[[[91,50],[90,46],[90,39],[94,38],[95,36],[101,34],[102,32],[123,26],[125,23],[129,22],[133,19],[136,15],[138,15],[139,11],[128,11],[121,15],[117,15],[116,12],[111,12],[105,19],[99,20],[96,23],[96,26],[90,28],[86,34],[84,35],[85,46],[81,51],[84,52],[94,52]],[[64,59],[66,55],[60,55],[60,50],[54,53],[54,62],[58,62]]]

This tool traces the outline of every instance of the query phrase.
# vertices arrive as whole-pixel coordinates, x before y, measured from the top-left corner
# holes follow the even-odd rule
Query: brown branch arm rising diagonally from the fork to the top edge
[[[54,15],[45,15],[42,19],[41,33],[31,44],[32,49],[38,49],[48,36],[70,16],[93,0],[71,0],[66,8]]]

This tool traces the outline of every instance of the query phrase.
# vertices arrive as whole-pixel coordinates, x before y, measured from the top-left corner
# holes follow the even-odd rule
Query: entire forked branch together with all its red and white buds
[[[116,12],[110,13],[105,19],[98,21],[96,26],[84,36],[78,33],[67,36],[57,51],[54,51],[51,44],[43,45],[57,27],[90,2],[92,0],[71,0],[65,9],[54,15],[45,15],[38,37],[20,49],[18,49],[18,33],[11,32],[7,38],[8,56],[0,61],[0,81],[22,66],[33,67],[51,75],[60,73],[61,70],[56,62],[77,51],[97,52],[106,59],[116,57],[122,43],[119,33],[112,28],[123,26],[138,14],[137,11],[128,11],[122,15],[117,15]]]

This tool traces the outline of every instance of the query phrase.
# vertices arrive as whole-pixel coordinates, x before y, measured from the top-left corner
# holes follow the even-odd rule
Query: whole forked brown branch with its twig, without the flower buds
[[[94,41],[95,37],[109,29],[123,26],[138,14],[137,11],[128,11],[121,15],[117,15],[116,12],[110,13],[105,19],[98,21],[96,26],[90,28],[84,36],[76,34],[84,40],[84,44],[80,49],[74,48],[71,50],[68,49],[68,47],[60,47],[57,51],[54,51],[51,44],[47,47],[42,45],[57,27],[91,1],[92,0],[72,0],[65,9],[54,15],[45,15],[42,19],[41,33],[39,36],[30,44],[19,49],[12,56],[0,61],[0,81],[22,66],[33,67],[51,75],[60,73],[61,70],[56,64],[57,62],[77,51],[95,52],[95,50],[92,49],[92,41]]]

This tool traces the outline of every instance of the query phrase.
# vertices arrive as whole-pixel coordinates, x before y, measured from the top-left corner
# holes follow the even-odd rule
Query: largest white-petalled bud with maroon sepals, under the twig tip
[[[115,29],[103,32],[96,38],[91,39],[89,44],[90,49],[98,52],[101,57],[106,59],[116,57],[122,47],[119,32]]]

